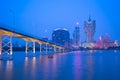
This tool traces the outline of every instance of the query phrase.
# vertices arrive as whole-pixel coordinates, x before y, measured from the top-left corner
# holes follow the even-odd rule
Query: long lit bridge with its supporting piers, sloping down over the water
[[[42,51],[42,46],[41,46],[42,44],[46,45],[46,49],[45,49],[46,53],[47,53],[47,50],[48,50],[47,46],[53,47],[54,53],[56,52],[56,49],[58,49],[59,52],[64,51],[64,47],[61,46],[61,45],[58,45],[56,43],[45,41],[45,40],[42,40],[40,38],[30,36],[30,35],[27,35],[27,34],[23,34],[23,33],[15,31],[15,30],[11,30],[11,29],[4,28],[4,27],[0,26],[0,59],[2,58],[2,53],[3,52],[8,53],[10,58],[12,57],[12,54],[13,54],[13,45],[12,45],[13,37],[20,38],[20,39],[22,39],[26,42],[25,53],[28,53],[28,51],[29,51],[28,42],[32,42],[32,44],[33,44],[33,46],[32,46],[33,53],[35,53],[35,51],[36,51],[35,50],[36,49],[35,48],[35,43],[39,44],[40,52]],[[7,49],[4,49],[5,47],[7,47]]]

